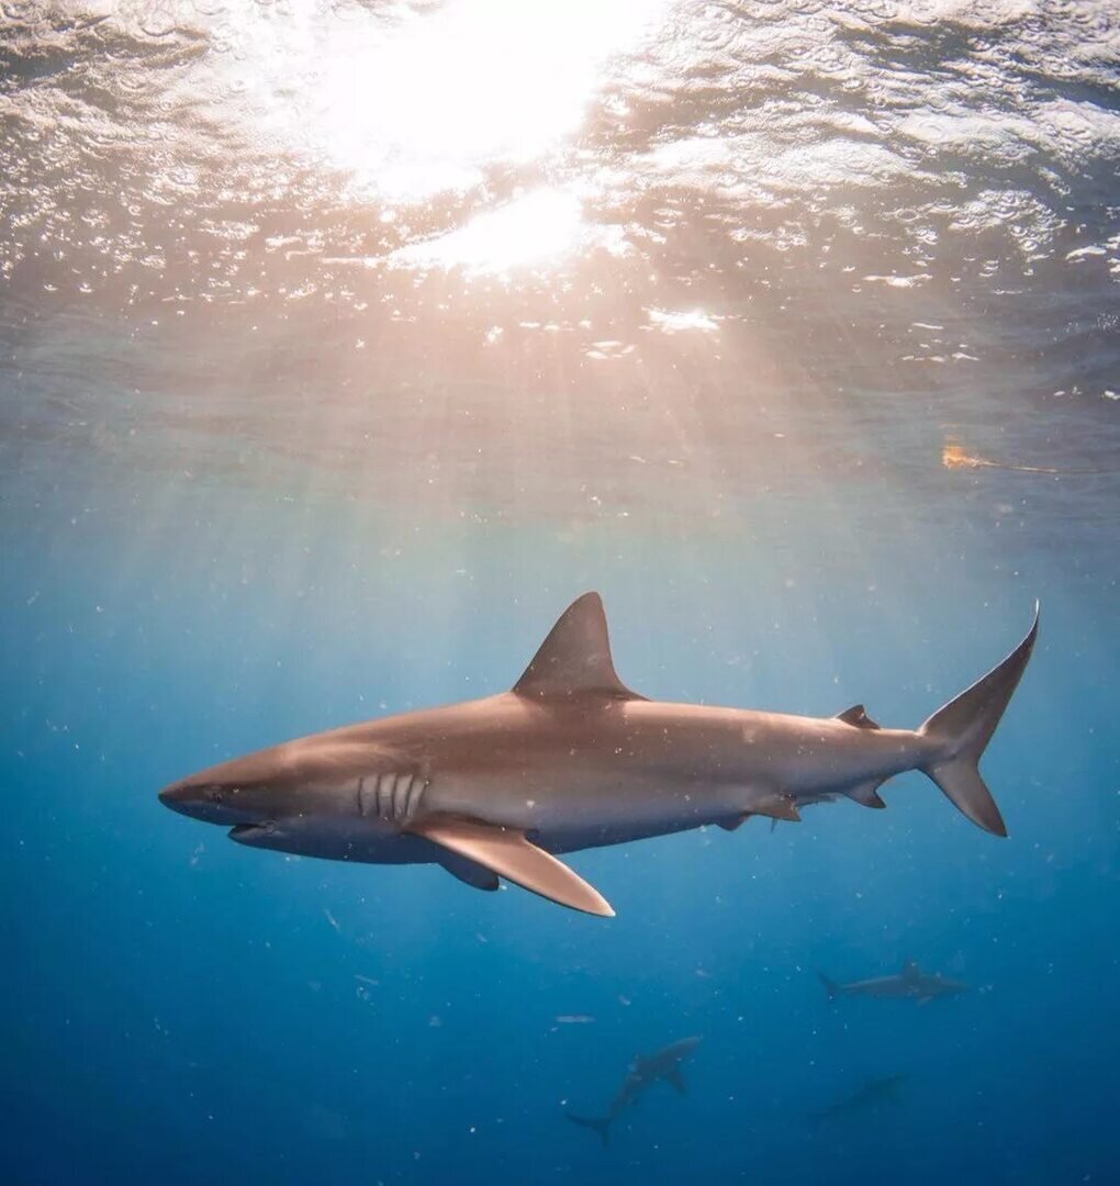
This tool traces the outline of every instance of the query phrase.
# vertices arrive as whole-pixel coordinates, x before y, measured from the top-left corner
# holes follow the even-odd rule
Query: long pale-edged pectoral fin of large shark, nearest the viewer
[[[524,833],[516,828],[499,828],[457,816],[432,816],[408,824],[406,830],[561,906],[606,918],[615,914],[598,890],[551,853],[526,840]]]

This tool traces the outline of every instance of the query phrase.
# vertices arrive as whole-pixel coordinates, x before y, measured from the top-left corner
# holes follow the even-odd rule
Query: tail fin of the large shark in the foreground
[[[918,729],[923,737],[941,742],[937,757],[922,770],[974,824],[997,836],[1006,836],[1007,828],[976,763],[1026,669],[1037,636],[1036,602],[1035,621],[1026,638],[1003,663],[940,708]]]

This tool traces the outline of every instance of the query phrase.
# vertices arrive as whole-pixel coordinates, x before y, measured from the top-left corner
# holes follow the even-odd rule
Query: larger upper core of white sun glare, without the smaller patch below
[[[545,157],[580,127],[606,59],[657,4],[457,0],[387,25],[362,11],[322,45],[317,134],[384,197],[464,190]]]

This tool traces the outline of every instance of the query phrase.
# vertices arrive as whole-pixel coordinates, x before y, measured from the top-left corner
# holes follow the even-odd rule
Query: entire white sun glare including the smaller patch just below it
[[[393,263],[504,272],[603,238],[558,184],[562,158],[610,59],[656,32],[668,0],[351,5],[326,20],[299,5],[284,20],[255,7],[222,66],[256,101],[255,138],[310,153],[383,222],[414,224],[441,197],[466,198],[458,225]],[[527,168],[539,185],[488,192],[496,171]]]

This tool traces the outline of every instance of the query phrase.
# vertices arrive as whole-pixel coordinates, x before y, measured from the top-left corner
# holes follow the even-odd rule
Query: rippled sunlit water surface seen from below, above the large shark
[[[596,514],[1107,483],[1118,44],[1107,2],[6,0],[6,447],[448,508],[594,463]]]

